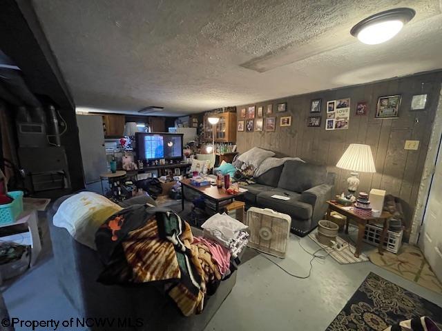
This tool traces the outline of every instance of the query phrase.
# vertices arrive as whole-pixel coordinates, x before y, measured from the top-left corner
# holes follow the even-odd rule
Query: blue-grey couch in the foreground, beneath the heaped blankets
[[[206,301],[202,314],[191,317],[181,314],[160,285],[119,286],[98,283],[97,277],[102,271],[102,262],[97,252],[75,241],[66,229],[52,225],[53,215],[67,197],[55,201],[48,211],[59,285],[77,309],[79,317],[115,319],[112,327],[95,326],[90,330],[204,330],[235,285],[236,272],[221,282],[217,292]],[[127,201],[122,206],[126,205]],[[196,235],[202,233],[196,228],[192,228],[192,232]],[[126,323],[124,327],[118,327],[118,318],[122,323]],[[133,325],[127,324],[129,320]],[[136,326],[137,321],[142,325]]]

